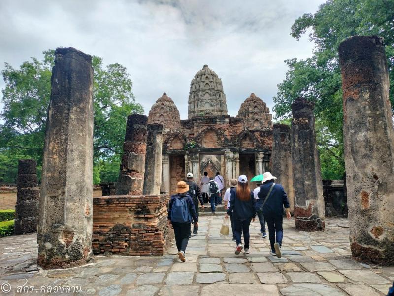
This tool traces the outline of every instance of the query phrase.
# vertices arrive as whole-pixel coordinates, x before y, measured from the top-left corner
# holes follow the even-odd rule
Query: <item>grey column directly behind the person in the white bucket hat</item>
[[[292,154],[290,152],[290,127],[286,124],[273,125],[272,170],[277,183],[282,184],[289,197],[290,212],[294,212],[294,189]]]

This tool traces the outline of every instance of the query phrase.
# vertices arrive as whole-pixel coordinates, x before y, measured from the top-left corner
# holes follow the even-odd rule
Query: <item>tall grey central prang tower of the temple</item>
[[[188,113],[188,119],[228,115],[222,80],[208,65],[197,72],[190,84]]]

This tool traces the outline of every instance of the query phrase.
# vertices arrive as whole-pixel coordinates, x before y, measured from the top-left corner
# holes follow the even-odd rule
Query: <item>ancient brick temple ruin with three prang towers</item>
[[[240,172],[252,178],[269,170],[272,115],[262,99],[252,93],[238,115],[229,116],[222,81],[207,65],[193,78],[189,94],[187,120],[180,120],[166,93],[149,112],[148,123],[163,124],[161,192],[174,192],[187,172],[198,182],[204,171],[209,177],[219,171],[227,183]]]

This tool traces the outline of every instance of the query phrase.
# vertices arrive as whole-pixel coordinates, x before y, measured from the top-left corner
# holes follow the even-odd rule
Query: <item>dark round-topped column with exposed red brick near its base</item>
[[[324,229],[324,198],[316,148],[314,103],[297,98],[292,104],[294,216],[298,230]]]

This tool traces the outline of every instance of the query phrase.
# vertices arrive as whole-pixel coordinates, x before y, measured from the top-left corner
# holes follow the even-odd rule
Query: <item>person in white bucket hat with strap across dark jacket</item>
[[[263,185],[257,194],[256,211],[261,211],[268,225],[271,254],[282,257],[281,246],[283,240],[283,206],[286,209],[287,220],[290,219],[289,199],[285,189],[280,184],[275,184],[276,177],[270,172],[263,174]],[[276,234],[276,241],[275,241]]]

